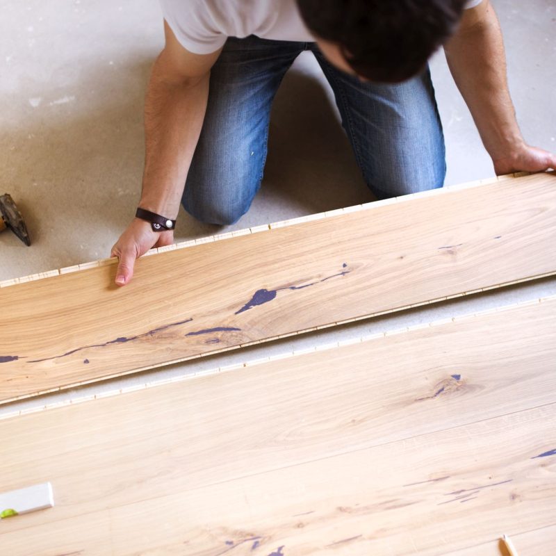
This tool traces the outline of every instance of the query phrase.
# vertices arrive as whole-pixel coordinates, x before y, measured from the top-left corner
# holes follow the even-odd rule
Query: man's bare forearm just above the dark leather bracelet
[[[163,58],[156,60],[145,100],[142,208],[176,218],[202,128],[208,79],[170,79]]]

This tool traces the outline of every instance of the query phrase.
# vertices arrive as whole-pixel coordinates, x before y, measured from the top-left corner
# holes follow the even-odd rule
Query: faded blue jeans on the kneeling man
[[[342,125],[379,199],[442,187],[445,149],[427,70],[397,85],[363,83],[327,62],[313,42],[229,38],[213,66],[206,115],[182,204],[197,220],[233,224],[261,186],[270,108],[304,50],[334,90]]]

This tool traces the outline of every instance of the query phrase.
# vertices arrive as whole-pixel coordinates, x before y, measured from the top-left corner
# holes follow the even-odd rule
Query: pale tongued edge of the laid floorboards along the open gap
[[[390,336],[401,335],[401,334],[405,334],[407,332],[414,332],[416,330],[427,329],[427,328],[430,328],[430,327],[436,327],[436,326],[447,325],[447,324],[452,324],[452,323],[459,323],[463,320],[469,320],[469,319],[472,319],[472,318],[473,319],[474,318],[481,318],[483,316],[489,316],[489,315],[493,315],[493,314],[496,314],[496,313],[502,313],[504,311],[512,311],[514,309],[523,308],[525,306],[533,306],[533,305],[537,305],[537,304],[540,304],[540,303],[546,303],[546,302],[548,302],[548,303],[556,302],[556,294],[555,295],[550,295],[548,297],[537,298],[537,299],[534,299],[534,300],[526,300],[526,301],[517,302],[517,303],[514,303],[514,304],[505,305],[505,306],[494,307],[494,308],[491,308],[491,309],[484,309],[483,311],[477,311],[475,313],[466,313],[464,315],[457,316],[457,317],[443,318],[443,319],[439,319],[439,320],[434,320],[434,321],[429,322],[429,323],[420,323],[418,325],[413,325],[413,326],[410,326],[410,327],[404,327],[404,328],[400,328],[400,329],[394,329],[394,330],[391,330],[391,331],[377,332],[375,334],[367,334],[366,336],[360,336],[359,338],[348,338],[347,340],[338,341],[338,342],[331,342],[331,343],[326,343],[326,344],[322,344],[322,345],[316,345],[314,347],[304,348],[302,350],[293,350],[291,352],[284,352],[284,353],[281,353],[281,354],[271,355],[269,357],[261,357],[259,359],[252,359],[250,361],[244,361],[243,363],[232,363],[231,365],[227,365],[227,366],[223,366],[223,367],[213,367],[211,369],[198,371],[197,373],[187,373],[187,374],[177,375],[175,377],[159,379],[159,380],[155,379],[151,382],[146,382],[146,383],[143,383],[143,384],[137,384],[136,386],[128,386],[127,388],[123,388],[123,389],[108,390],[106,392],[101,392],[99,394],[83,395],[81,397],[72,398],[70,400],[64,400],[62,402],[54,402],[54,403],[51,403],[51,404],[42,404],[42,405],[39,404],[35,407],[30,407],[28,409],[21,409],[19,411],[12,411],[10,413],[2,414],[2,415],[0,415],[0,420],[13,418],[13,417],[17,417],[17,416],[22,416],[22,415],[27,415],[27,414],[32,414],[32,413],[38,413],[39,411],[44,411],[44,410],[48,410],[48,409],[57,409],[59,407],[66,407],[68,405],[74,405],[74,404],[78,404],[78,403],[81,403],[81,402],[88,402],[88,401],[92,401],[92,400],[100,400],[102,398],[111,398],[115,395],[126,394],[126,393],[135,392],[135,391],[145,390],[145,389],[149,389],[149,388],[154,388],[156,386],[165,386],[167,384],[174,384],[174,383],[177,383],[177,382],[185,382],[186,380],[190,380],[190,379],[212,376],[212,375],[218,375],[220,373],[227,373],[229,371],[240,370],[240,369],[243,369],[243,368],[257,366],[257,365],[261,365],[261,364],[264,364],[264,363],[270,363],[272,361],[278,361],[280,359],[291,359],[292,357],[299,357],[299,356],[311,354],[311,353],[314,353],[314,352],[335,350],[339,347],[345,347],[347,345],[355,345],[355,344],[358,344],[358,343],[365,343],[365,342],[377,340],[379,338],[386,338],[386,337],[390,337]],[[230,350],[234,349],[234,348],[237,348],[237,347],[231,347]],[[200,357],[200,356],[197,356],[197,357]],[[191,358],[191,359],[194,359],[194,358]],[[168,364],[170,364],[170,363],[168,363]],[[140,370],[133,370],[133,373],[139,373],[139,372],[140,372]],[[131,373],[128,373],[128,374],[131,374]],[[125,376],[125,375],[114,375],[113,377],[105,377],[104,380],[108,380],[110,378],[114,378],[114,377],[118,377],[118,376],[122,377],[122,376]],[[98,382],[98,381],[94,381],[94,382]],[[83,386],[85,384],[91,384],[91,383],[90,382],[84,382],[84,383],[78,384],[77,386]],[[65,389],[70,389],[72,387],[75,387],[75,385],[67,386],[67,387],[65,387]],[[58,389],[49,390],[49,391],[44,392],[44,393],[46,393],[46,394],[54,393],[54,392],[57,392],[57,391],[60,391],[60,390],[61,390],[61,388],[58,387]],[[44,395],[44,393],[42,393],[42,394]],[[41,395],[41,393],[38,393],[36,395]],[[17,398],[16,400],[10,400],[10,402],[17,402],[17,400],[22,400],[22,399],[26,399],[26,398]],[[542,407],[542,406],[539,406],[539,407]],[[480,422],[480,421],[477,421],[477,423],[478,422]]]

